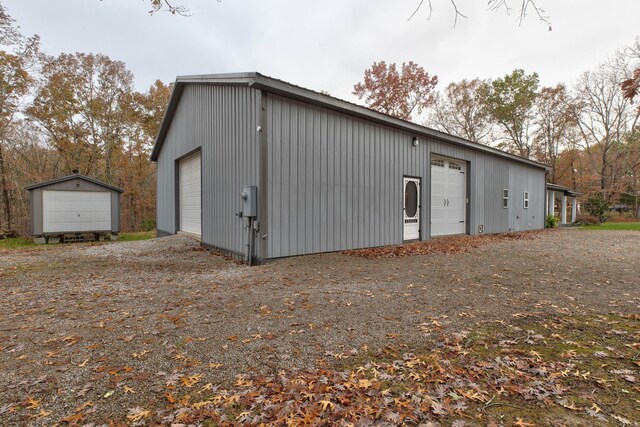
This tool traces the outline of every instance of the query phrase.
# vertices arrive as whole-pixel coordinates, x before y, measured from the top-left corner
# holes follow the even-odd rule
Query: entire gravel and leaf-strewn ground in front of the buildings
[[[0,424],[638,425],[638,249],[563,230],[254,268],[180,236],[6,252]]]

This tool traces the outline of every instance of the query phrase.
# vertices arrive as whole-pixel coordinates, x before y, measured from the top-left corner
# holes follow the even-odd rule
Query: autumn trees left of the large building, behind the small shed
[[[28,234],[24,187],[76,170],[125,189],[123,231],[155,227],[149,155],[171,86],[133,81],[105,55],[47,55],[0,5],[0,231]]]

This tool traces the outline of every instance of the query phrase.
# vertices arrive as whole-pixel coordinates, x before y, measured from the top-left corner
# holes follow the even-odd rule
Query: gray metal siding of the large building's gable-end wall
[[[159,230],[176,232],[176,160],[201,149],[202,242],[245,251],[247,230],[236,213],[242,210],[242,188],[258,184],[259,118],[257,90],[215,85],[184,88],[158,156]]]

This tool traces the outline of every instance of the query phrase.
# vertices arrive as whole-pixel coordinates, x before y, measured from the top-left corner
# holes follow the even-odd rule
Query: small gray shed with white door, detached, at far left
[[[121,188],[73,174],[26,190],[33,236],[120,232]]]

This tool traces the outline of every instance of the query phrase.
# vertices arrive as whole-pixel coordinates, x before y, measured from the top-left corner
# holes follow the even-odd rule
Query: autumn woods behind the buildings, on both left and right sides
[[[380,61],[353,93],[383,113],[546,163],[550,182],[640,215],[640,39],[571,85],[541,87],[519,69],[437,85],[413,62]],[[149,155],[170,94],[160,80],[136,91],[126,64],[102,54],[47,55],[0,4],[0,231],[28,234],[24,187],[76,169],[124,188],[122,231],[155,228]]]

